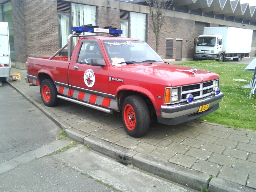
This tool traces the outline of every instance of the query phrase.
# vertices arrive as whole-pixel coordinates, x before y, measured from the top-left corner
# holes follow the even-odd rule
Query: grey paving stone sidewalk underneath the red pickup
[[[40,88],[25,82],[26,70],[12,68],[12,73],[20,73],[21,82],[9,84],[61,128],[70,130],[72,139],[94,140],[93,150],[111,156],[121,146],[120,153],[132,154],[130,164],[196,190],[200,186],[209,191],[256,189],[256,132],[191,121],[175,126],[154,123],[147,135],[132,138],[119,113],[110,115],[64,100],[57,107],[46,107]]]

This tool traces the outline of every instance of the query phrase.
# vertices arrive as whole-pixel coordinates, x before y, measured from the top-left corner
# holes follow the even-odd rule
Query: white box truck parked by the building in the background
[[[252,32],[235,27],[205,27],[204,35],[195,41],[195,59],[224,61],[232,58],[240,61],[251,52]]]

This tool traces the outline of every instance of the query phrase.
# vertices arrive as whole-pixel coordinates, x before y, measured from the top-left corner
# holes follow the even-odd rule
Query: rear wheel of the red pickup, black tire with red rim
[[[57,97],[59,94],[52,79],[44,79],[40,87],[41,98],[44,105],[48,107],[54,107],[58,105],[60,98]]]

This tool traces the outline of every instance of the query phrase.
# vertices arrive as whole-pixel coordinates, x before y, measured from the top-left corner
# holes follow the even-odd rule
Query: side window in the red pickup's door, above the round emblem
[[[90,64],[91,59],[103,58],[99,46],[92,42],[83,42],[78,54],[77,62]]]

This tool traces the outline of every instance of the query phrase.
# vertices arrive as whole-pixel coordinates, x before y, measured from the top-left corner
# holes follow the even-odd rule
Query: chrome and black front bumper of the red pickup
[[[211,95],[191,103],[182,102],[175,105],[162,105],[161,116],[157,116],[158,122],[176,125],[208,115],[219,108],[219,103],[223,96],[224,94],[220,92],[219,95]],[[198,113],[199,107],[208,103],[210,103],[208,110]]]

